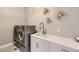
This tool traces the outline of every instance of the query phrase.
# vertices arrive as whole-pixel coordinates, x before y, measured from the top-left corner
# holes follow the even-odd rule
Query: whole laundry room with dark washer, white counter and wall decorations
[[[79,52],[79,7],[0,7],[0,52]]]

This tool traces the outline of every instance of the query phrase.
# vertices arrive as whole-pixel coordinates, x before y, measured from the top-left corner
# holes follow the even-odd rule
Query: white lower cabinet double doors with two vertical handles
[[[48,52],[48,41],[31,36],[31,52]]]

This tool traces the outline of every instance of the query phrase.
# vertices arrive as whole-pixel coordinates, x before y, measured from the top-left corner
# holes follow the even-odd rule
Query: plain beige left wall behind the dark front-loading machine
[[[25,24],[24,8],[0,7],[0,46],[13,41],[13,26]]]

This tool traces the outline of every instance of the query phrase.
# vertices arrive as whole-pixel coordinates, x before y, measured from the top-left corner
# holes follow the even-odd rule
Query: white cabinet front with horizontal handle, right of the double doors
[[[49,42],[48,48],[49,48],[49,52],[70,52],[72,51],[68,47],[64,47],[54,42]]]

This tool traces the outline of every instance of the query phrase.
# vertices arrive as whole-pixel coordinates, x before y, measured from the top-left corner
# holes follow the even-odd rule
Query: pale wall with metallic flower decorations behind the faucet
[[[26,8],[26,24],[36,25],[36,29],[39,31],[39,24],[43,22],[47,29],[47,33],[62,37],[73,38],[79,35],[79,8],[76,7],[61,7],[61,8],[48,8],[48,14],[44,15],[40,8]],[[62,9],[65,12],[65,16],[62,21],[58,21],[56,18],[57,10]],[[50,17],[51,23],[47,24],[46,17]]]

